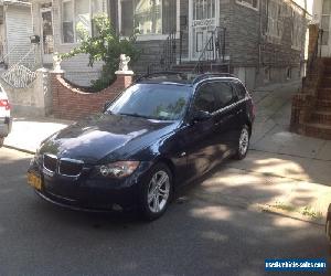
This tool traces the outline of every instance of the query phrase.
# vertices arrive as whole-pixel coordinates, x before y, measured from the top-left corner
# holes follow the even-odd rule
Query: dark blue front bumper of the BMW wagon
[[[32,161],[28,172],[41,177],[41,189],[34,189],[43,200],[72,210],[111,211],[136,208],[139,203],[140,183],[146,168],[137,169],[132,176],[122,180],[93,179],[82,174],[73,180],[62,176],[50,177]]]

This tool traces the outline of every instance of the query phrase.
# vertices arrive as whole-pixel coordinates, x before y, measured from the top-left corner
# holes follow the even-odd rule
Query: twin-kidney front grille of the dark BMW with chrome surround
[[[50,172],[58,172],[66,177],[78,177],[82,173],[84,162],[82,160],[60,158],[44,155],[43,166]]]

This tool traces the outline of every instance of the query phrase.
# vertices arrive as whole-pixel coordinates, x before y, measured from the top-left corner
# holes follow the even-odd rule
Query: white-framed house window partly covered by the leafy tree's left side
[[[75,43],[92,34],[92,19],[106,12],[105,0],[62,1],[62,42]]]

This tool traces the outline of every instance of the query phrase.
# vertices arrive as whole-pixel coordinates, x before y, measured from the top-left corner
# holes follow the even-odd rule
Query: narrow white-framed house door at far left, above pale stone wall
[[[52,63],[54,53],[52,8],[41,9],[41,50],[43,63]]]

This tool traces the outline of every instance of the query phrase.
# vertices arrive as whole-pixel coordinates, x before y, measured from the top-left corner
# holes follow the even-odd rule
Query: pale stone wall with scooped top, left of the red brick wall
[[[15,88],[2,78],[0,82],[8,94],[14,116],[47,116],[52,113],[52,92],[47,70],[38,70],[36,78],[24,88]]]

